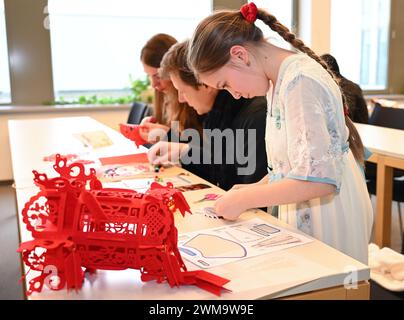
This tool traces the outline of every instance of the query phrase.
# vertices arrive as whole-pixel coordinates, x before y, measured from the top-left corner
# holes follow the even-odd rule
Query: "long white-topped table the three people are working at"
[[[69,153],[83,150],[73,133],[89,130],[104,130],[114,141],[113,147],[93,150],[97,155],[123,155],[135,150],[119,133],[87,117],[60,118],[47,120],[11,120],[9,122],[10,145],[13,171],[16,182],[18,218],[21,241],[31,239],[21,221],[21,210],[28,199],[37,192],[33,186],[32,169],[51,172],[51,163],[44,163],[43,156],[52,153]],[[184,172],[181,168],[171,168],[165,175]],[[192,182],[204,182],[190,175]],[[221,193],[212,186],[210,191]],[[206,190],[184,193],[191,205],[200,199]],[[289,228],[284,223],[262,211],[249,212],[241,219],[260,217],[269,223]],[[212,220],[202,215],[182,218],[176,216],[179,233],[222,226],[229,222]],[[186,263],[190,269],[195,269]],[[354,273],[351,273],[355,270]],[[313,241],[307,245],[287,249],[229,263],[208,271],[231,280],[227,287],[233,292],[223,294],[220,299],[263,299],[263,298],[323,298],[323,299],[368,299],[370,278],[369,268],[337,250]],[[143,283],[137,270],[99,271],[96,277],[86,278],[79,292],[50,291],[33,294],[30,299],[217,299],[218,297],[199,288],[189,286],[170,288],[167,284]],[[353,276],[353,279],[350,277]],[[305,279],[302,281],[302,279]],[[343,284],[351,279],[358,284],[357,290],[347,290]]]

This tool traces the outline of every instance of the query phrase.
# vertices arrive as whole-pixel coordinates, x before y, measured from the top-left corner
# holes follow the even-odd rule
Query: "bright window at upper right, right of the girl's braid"
[[[364,90],[388,86],[390,8],[390,0],[331,2],[331,54]]]

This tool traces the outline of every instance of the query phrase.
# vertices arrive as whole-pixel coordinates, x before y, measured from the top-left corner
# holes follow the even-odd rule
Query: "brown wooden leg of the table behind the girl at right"
[[[393,168],[386,166],[382,157],[377,162],[375,242],[379,247],[390,247],[391,205],[393,200]]]

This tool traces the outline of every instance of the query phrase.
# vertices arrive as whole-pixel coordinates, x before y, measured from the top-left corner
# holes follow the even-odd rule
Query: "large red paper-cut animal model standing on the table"
[[[142,281],[196,285],[220,295],[229,280],[209,272],[187,271],[178,251],[173,213],[190,208],[172,184],[152,183],[146,193],[103,188],[95,170],[85,174],[80,163],[56,156],[59,177],[33,171],[40,192],[26,203],[23,221],[34,240],[18,252],[40,275],[30,280],[27,294],[80,289],[84,271],[138,269]],[[86,188],[88,186],[88,188]]]

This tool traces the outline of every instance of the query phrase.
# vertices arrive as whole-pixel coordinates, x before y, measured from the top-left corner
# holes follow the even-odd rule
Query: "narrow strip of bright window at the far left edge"
[[[0,103],[10,103],[10,72],[3,0],[0,0],[0,61]]]

